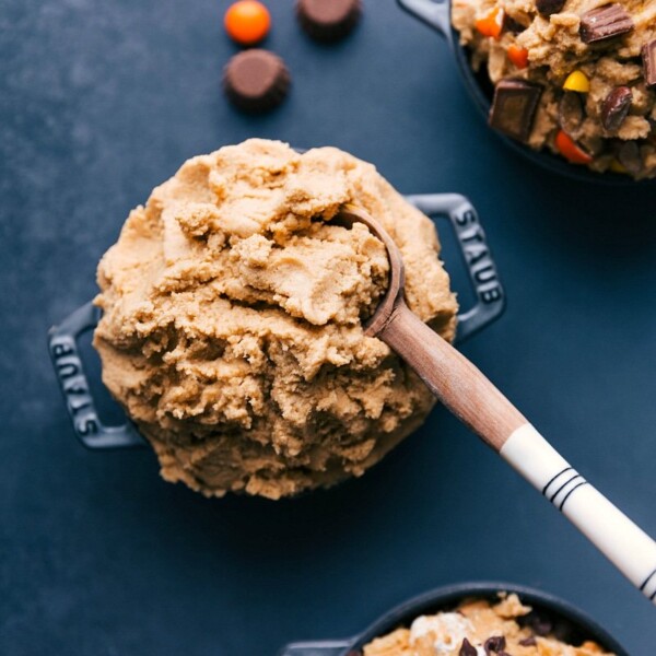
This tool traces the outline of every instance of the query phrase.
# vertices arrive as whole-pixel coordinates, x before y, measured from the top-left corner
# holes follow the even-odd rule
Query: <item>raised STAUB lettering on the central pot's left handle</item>
[[[99,432],[99,421],[93,410],[93,402],[82,373],[82,361],[71,337],[55,338],[50,342],[50,354],[66,395],[69,412],[73,418],[75,432],[89,437]]]

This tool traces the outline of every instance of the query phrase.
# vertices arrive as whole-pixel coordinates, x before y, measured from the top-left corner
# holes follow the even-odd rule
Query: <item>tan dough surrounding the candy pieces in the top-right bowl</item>
[[[645,81],[641,49],[656,38],[656,0],[620,0],[633,22],[621,36],[586,44],[579,35],[582,16],[609,4],[609,0],[566,0],[557,13],[541,15],[537,0],[453,0],[452,22],[460,43],[471,49],[475,70],[487,67],[493,84],[503,79],[528,80],[542,87],[528,145],[559,154],[555,137],[562,128],[588,155],[593,171],[608,169],[636,179],[656,177],[656,86]],[[483,36],[477,20],[495,8],[506,22],[499,39]],[[509,21],[508,21],[509,20]],[[528,65],[518,68],[508,48],[526,51]],[[567,92],[579,103],[575,121],[563,116],[563,84],[579,71],[589,81],[586,93]],[[619,127],[607,129],[605,101],[618,87],[628,87],[632,98]],[[571,113],[571,109],[570,109]],[[578,116],[581,114],[581,116]]]

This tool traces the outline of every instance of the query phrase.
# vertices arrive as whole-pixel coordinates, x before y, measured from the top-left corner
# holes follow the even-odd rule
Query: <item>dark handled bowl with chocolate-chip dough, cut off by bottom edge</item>
[[[628,656],[594,620],[541,590],[464,583],[425,593],[345,640],[296,642],[280,656]]]

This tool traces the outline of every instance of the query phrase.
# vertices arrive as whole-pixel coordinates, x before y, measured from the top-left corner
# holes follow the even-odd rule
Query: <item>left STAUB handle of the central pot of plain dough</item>
[[[84,446],[94,449],[143,446],[143,437],[130,421],[106,426],[96,411],[78,351],[78,338],[95,328],[98,319],[99,309],[90,302],[48,331],[48,350],[75,435]]]

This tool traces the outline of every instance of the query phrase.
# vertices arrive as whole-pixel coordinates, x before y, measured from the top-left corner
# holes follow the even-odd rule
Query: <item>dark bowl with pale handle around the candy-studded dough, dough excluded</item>
[[[453,28],[450,23],[452,1],[442,0],[441,2],[436,2],[435,0],[397,0],[397,2],[407,12],[435,30],[446,40],[448,47],[454,54],[454,57],[456,58],[460,78],[465,82],[465,86],[473,99],[473,104],[487,122],[494,89],[492,87],[492,83],[490,82],[490,79],[484,70],[475,73],[475,71],[471,69],[467,48],[460,46],[459,34]],[[548,168],[553,173],[564,175],[569,178],[604,185],[656,186],[656,179],[636,181],[628,175],[620,175],[611,172],[596,173],[589,168],[586,168],[585,166],[570,164],[570,162],[563,157],[560,157],[548,150],[536,151],[528,145],[519,143],[509,137],[502,134],[497,130],[492,131],[508,148],[513,149],[515,152],[518,152],[527,160],[530,160],[535,164]]]

